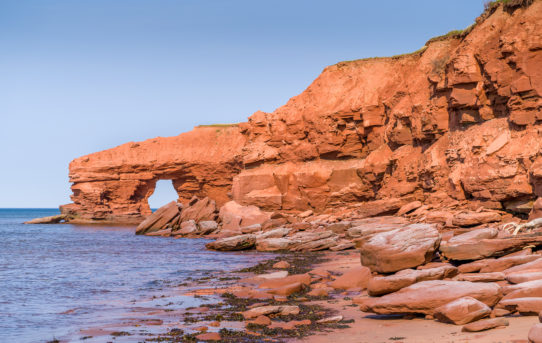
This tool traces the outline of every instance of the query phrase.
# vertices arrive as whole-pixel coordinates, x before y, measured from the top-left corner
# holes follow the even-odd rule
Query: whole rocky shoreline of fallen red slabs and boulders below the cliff
[[[506,327],[513,318],[542,311],[538,202],[531,221],[523,223],[507,213],[484,209],[440,211],[443,220],[434,222],[435,212],[415,202],[401,206],[394,216],[367,218],[364,213],[359,218],[359,213],[356,208],[341,213],[270,213],[235,202],[218,208],[208,198],[193,198],[187,206],[171,202],[158,209],[137,233],[212,238],[208,249],[280,252],[281,261],[241,271],[250,276],[207,280],[216,286],[187,292],[221,300],[203,306],[205,315],[189,314],[197,332],[175,327],[156,339],[302,338],[328,328],[347,328],[340,311],[326,309],[326,302],[336,301],[361,310],[347,321],[374,313],[377,318],[424,318],[462,332]],[[348,269],[336,269],[341,256],[348,256]],[[315,267],[322,258],[333,262]],[[323,303],[313,305],[315,301]],[[211,317],[226,318],[230,324],[222,327]],[[232,328],[227,326],[232,322],[236,322]],[[523,337],[540,342],[542,324],[531,326]]]

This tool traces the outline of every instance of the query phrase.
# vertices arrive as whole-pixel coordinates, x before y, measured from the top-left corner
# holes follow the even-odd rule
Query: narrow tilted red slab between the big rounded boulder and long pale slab
[[[442,266],[429,269],[405,269],[389,276],[375,276],[369,280],[367,291],[371,296],[379,296],[396,292],[416,282],[427,280],[441,280],[453,277],[457,268]]]

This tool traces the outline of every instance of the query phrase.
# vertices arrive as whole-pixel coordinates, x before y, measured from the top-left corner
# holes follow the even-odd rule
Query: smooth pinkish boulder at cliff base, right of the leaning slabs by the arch
[[[271,214],[256,206],[243,206],[230,201],[220,208],[219,217],[223,231],[241,232],[241,228],[254,224],[263,224],[271,219]]]

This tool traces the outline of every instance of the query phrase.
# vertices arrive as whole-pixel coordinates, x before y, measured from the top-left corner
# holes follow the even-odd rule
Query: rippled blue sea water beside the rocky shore
[[[0,209],[0,342],[46,342],[105,325],[134,299],[269,257],[208,251],[205,239],[136,236],[128,226],[23,224],[55,214]],[[175,304],[194,305],[182,296]]]

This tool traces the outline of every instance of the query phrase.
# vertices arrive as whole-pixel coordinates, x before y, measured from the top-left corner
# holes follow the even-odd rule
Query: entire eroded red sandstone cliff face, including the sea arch
[[[491,12],[422,52],[327,67],[247,123],[78,158],[64,211],[140,220],[158,179],[180,200],[266,210],[386,199],[502,208],[542,196],[542,2]]]

